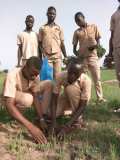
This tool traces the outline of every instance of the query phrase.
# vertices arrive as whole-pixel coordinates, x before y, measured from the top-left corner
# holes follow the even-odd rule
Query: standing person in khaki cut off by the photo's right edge
[[[118,2],[120,3],[120,0]],[[116,76],[120,86],[120,6],[111,16],[110,30],[108,57],[111,59],[114,57]]]

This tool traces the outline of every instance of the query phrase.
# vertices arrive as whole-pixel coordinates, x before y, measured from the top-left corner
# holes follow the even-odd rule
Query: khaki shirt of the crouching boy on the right
[[[67,71],[61,72],[57,76],[53,92],[55,94],[59,94],[61,87],[67,87],[68,85],[69,83],[67,82]],[[80,99],[89,101],[91,97],[91,80],[86,74],[82,73],[80,77],[75,82],[73,82],[72,85],[79,87]],[[75,90],[73,92],[75,92]]]

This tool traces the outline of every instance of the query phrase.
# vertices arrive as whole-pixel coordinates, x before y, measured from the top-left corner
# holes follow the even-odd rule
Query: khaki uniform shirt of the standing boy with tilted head
[[[99,39],[100,33],[96,25],[88,25],[85,28],[78,28],[73,35],[73,45],[79,43],[79,54],[83,57],[97,56],[97,50],[89,51],[88,47],[97,44],[96,39]]]

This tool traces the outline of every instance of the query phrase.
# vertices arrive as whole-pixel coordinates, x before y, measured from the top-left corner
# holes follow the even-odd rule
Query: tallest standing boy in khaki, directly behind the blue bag
[[[61,27],[55,23],[56,9],[54,7],[48,8],[47,18],[47,23],[39,30],[39,43],[41,54],[43,57],[48,58],[48,63],[53,67],[53,74],[56,78],[56,74],[61,71],[61,52],[64,57],[67,57],[67,55],[63,31]]]

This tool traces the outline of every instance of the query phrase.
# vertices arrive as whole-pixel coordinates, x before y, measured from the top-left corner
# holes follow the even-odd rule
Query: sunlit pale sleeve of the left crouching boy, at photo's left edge
[[[16,95],[16,80],[11,73],[8,73],[4,83],[3,96],[15,98],[15,95]]]

